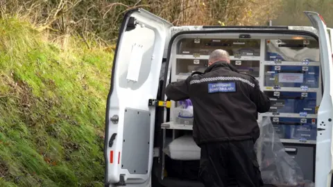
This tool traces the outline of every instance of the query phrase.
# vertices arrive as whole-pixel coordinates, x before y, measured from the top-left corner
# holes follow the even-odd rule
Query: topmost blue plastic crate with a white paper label
[[[319,66],[265,66],[265,87],[318,88]]]

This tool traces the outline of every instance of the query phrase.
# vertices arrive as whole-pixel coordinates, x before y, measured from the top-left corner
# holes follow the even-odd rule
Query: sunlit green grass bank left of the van
[[[0,186],[103,186],[113,54],[0,19]]]

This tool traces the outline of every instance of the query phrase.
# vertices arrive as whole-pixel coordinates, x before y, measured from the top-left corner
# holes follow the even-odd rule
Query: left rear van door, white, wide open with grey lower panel
[[[121,24],[105,116],[105,186],[149,186],[153,165],[155,99],[168,21],[142,9]]]

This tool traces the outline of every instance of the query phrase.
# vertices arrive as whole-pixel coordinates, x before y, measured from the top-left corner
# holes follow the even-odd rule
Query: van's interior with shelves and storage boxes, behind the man
[[[272,103],[270,111],[259,118],[271,119],[285,151],[298,163],[304,178],[314,181],[316,114],[322,97],[319,45],[314,35],[212,32],[178,35],[172,42],[171,82],[184,80],[194,71],[205,71],[208,57],[216,48],[228,51],[231,64],[240,73],[259,80]],[[191,137],[193,118],[179,117],[182,107],[179,102],[171,103],[169,122],[162,123],[163,146],[178,138],[183,141],[173,143],[169,155],[162,155],[162,176],[198,180],[200,148],[193,139],[185,139]]]

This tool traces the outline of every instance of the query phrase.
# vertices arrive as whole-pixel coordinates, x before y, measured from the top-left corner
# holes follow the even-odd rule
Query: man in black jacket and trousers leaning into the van
[[[257,112],[268,112],[271,103],[255,78],[230,64],[228,52],[213,51],[204,73],[170,83],[166,95],[176,101],[189,98],[193,104],[193,136],[201,148],[199,177],[206,187],[227,186],[230,175],[240,187],[262,186],[254,148]]]

